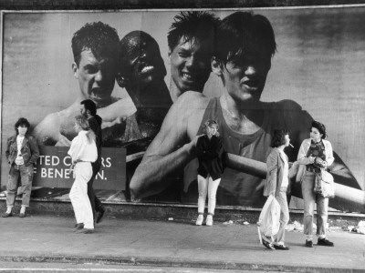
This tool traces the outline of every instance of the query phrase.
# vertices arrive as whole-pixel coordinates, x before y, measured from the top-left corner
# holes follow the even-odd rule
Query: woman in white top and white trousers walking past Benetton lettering
[[[69,192],[76,217],[77,233],[92,233],[94,220],[88,197],[88,182],[92,176],[91,162],[98,158],[95,134],[85,116],[75,116],[75,130],[78,133],[71,143],[68,155],[72,158],[75,182]]]

